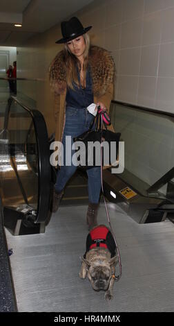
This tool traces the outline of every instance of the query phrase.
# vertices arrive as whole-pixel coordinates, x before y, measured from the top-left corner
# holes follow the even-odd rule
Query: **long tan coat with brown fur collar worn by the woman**
[[[99,46],[91,46],[88,62],[93,81],[94,103],[104,103],[107,110],[113,98],[115,65],[108,51]],[[61,141],[66,119],[66,66],[64,51],[60,51],[49,67],[50,87],[55,94],[55,141]],[[113,130],[113,126],[108,127]]]

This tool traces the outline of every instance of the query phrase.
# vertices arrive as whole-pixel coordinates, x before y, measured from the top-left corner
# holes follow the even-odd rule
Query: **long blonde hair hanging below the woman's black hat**
[[[83,35],[84,41],[86,44],[85,51],[84,51],[84,78],[86,78],[86,69],[88,67],[88,53],[90,49],[90,37],[86,33]],[[74,89],[72,82],[79,85],[79,80],[77,76],[77,67],[80,67],[79,60],[73,55],[70,50],[68,49],[68,45],[64,44],[64,53],[65,53],[65,65],[66,65],[66,83],[68,87]]]

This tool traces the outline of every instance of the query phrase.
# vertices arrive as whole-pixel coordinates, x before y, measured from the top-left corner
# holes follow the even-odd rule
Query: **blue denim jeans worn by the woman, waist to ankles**
[[[62,139],[62,144],[64,146],[64,165],[57,172],[57,180],[55,183],[55,191],[60,193],[66,182],[77,170],[77,166],[72,164],[72,155],[75,150],[72,150],[73,137],[81,135],[86,132],[90,126],[91,121],[94,119],[93,114],[90,114],[86,109],[75,109],[72,107],[66,108],[66,123],[64,128],[64,135]],[[71,136],[71,143],[66,148],[66,136]],[[71,146],[71,147],[70,147]],[[66,164],[66,151],[71,152],[69,157],[69,164]],[[94,166],[86,170],[88,174],[88,198],[90,203],[99,203],[99,194],[101,190],[101,175],[100,166]]]

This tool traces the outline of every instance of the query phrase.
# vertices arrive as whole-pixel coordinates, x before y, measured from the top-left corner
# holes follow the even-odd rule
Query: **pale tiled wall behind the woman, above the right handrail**
[[[174,112],[174,0],[95,0],[77,15],[113,53],[115,99]],[[45,78],[59,37],[58,24],[18,49],[20,76]]]

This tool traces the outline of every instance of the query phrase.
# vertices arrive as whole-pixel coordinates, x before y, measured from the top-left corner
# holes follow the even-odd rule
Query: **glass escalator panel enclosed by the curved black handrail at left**
[[[3,117],[2,117],[3,118]],[[1,119],[1,128],[4,118]],[[30,112],[12,101],[7,128],[0,135],[0,182],[3,205],[37,209],[37,141]]]

